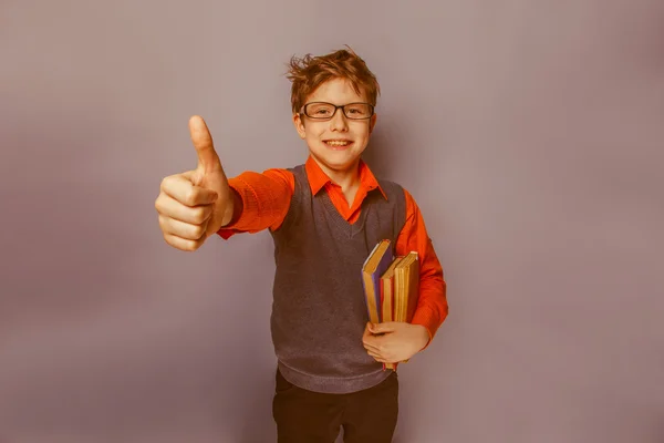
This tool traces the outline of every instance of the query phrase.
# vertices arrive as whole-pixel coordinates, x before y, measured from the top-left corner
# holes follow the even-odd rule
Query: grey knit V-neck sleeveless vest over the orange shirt
[[[362,334],[369,313],[362,265],[382,239],[405,224],[403,188],[378,181],[350,224],[324,189],[312,195],[303,165],[289,169],[295,187],[274,240],[277,270],[270,328],[279,369],[292,384],[315,392],[349,393],[390,374],[366,353]]]

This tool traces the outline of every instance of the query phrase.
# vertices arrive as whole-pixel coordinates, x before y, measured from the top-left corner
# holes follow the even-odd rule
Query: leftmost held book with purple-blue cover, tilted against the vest
[[[380,323],[381,316],[381,276],[385,274],[394,257],[390,240],[381,240],[373,248],[362,266],[362,285],[364,287],[364,299],[369,320]]]

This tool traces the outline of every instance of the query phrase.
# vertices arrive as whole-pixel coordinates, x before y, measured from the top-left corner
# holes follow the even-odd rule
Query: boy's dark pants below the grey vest
[[[272,415],[279,443],[390,443],[398,414],[398,379],[350,394],[324,394],[288,382],[277,370]]]

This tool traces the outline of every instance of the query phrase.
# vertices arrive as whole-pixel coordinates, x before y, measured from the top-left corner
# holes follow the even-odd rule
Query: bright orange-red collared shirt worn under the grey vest
[[[336,210],[351,224],[360,216],[366,194],[372,189],[380,189],[378,181],[369,166],[360,161],[360,188],[355,200],[349,206],[341,186],[333,183],[311,156],[307,159],[305,169],[311,193],[315,195],[324,187]],[[228,182],[242,199],[243,209],[234,223],[219,229],[218,234],[222,238],[228,239],[236,233],[258,233],[267,228],[274,230],[281,226],[295,189],[291,172],[280,168],[268,169],[262,174],[246,172]],[[407,190],[404,192],[406,223],[396,239],[395,254],[405,256],[416,250],[419,256],[419,299],[411,323],[426,327],[430,342],[447,317],[447,286],[419,208],[413,196]]]

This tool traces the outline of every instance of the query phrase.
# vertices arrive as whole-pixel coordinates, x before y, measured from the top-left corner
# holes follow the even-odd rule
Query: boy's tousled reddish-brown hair
[[[347,50],[342,49],[325,55],[307,54],[301,59],[294,55],[291,58],[287,78],[292,82],[293,113],[300,112],[307,97],[317,87],[332,79],[349,80],[359,95],[364,93],[369,103],[376,105],[381,93],[376,76],[369,70],[364,60],[349,45],[346,48]]]

